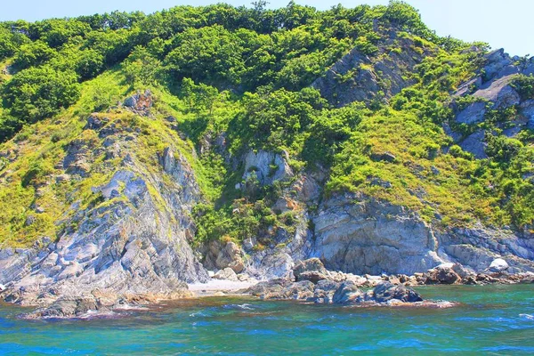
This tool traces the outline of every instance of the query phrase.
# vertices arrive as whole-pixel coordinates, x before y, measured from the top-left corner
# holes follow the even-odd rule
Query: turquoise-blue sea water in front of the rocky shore
[[[114,320],[20,320],[0,305],[0,354],[534,354],[534,285],[422,287],[452,309],[205,298]]]

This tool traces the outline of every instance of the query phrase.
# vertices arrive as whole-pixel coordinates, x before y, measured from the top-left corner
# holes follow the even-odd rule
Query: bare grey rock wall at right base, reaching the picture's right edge
[[[361,195],[328,199],[313,223],[311,256],[319,257],[328,270],[411,275],[442,263],[461,263],[473,271],[485,271],[493,260],[506,256],[513,271],[534,271],[530,235],[481,225],[438,231],[401,206]],[[435,279],[455,283],[458,278],[438,275]]]

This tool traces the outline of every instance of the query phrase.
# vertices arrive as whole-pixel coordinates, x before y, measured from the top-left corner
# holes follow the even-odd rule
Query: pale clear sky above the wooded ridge
[[[156,12],[181,4],[229,3],[249,5],[253,0],[24,0],[6,1],[0,20],[43,20],[93,13],[120,11]],[[440,36],[453,36],[467,42],[483,41],[492,48],[505,48],[511,55],[534,55],[531,18],[534,0],[405,0],[416,7],[426,25]],[[270,0],[269,7],[287,5],[289,0]],[[343,4],[388,4],[389,0],[295,0],[320,10]]]

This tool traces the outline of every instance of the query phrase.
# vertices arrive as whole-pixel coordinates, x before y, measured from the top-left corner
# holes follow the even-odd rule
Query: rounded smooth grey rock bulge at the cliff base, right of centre
[[[443,262],[435,253],[433,231],[400,206],[337,196],[321,206],[313,222],[312,255],[329,270],[412,274]]]

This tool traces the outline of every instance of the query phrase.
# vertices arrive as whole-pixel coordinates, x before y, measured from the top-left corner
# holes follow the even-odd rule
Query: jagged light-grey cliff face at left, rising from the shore
[[[58,298],[106,295],[114,303],[132,295],[169,298],[187,295],[185,282],[204,282],[207,272],[193,255],[195,226],[190,210],[200,199],[198,183],[180,150],[160,152],[150,171],[137,156],[139,134],[92,116],[86,130],[112,142],[104,156],[116,162],[93,203],[77,200],[60,222],[57,241],[41,247],[0,252],[0,284],[8,302],[47,305]],[[63,160],[68,179],[84,179],[101,151],[71,142]],[[97,298],[98,299],[98,298]]]

